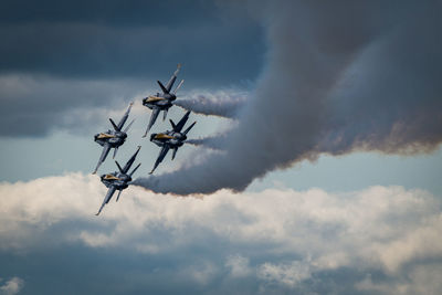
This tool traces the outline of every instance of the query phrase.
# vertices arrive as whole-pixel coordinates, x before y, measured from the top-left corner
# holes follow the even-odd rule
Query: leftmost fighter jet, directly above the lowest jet
[[[126,140],[127,130],[130,128],[130,126],[135,119],[133,119],[124,130],[122,130],[122,128],[125,125],[125,123],[129,116],[129,112],[130,112],[133,104],[134,103],[130,103],[129,107],[127,108],[123,118],[119,120],[118,125],[116,125],[114,123],[114,120],[112,118],[109,118],[110,124],[114,127],[114,130],[108,129],[107,133],[101,133],[101,134],[96,134],[94,136],[95,143],[97,143],[98,145],[101,145],[103,147],[103,152],[102,152],[102,156],[99,156],[98,164],[97,164],[94,172],[92,172],[93,175],[96,173],[96,171],[98,170],[98,167],[104,162],[104,160],[107,157],[107,154],[109,154],[110,148],[114,148],[114,157],[113,158],[115,159],[115,156],[117,155],[117,151],[118,151],[118,147],[120,145],[123,145],[124,141]]]

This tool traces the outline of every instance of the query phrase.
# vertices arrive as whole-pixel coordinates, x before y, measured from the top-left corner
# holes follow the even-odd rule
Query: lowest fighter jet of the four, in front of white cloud
[[[138,164],[138,166],[135,167],[135,169],[131,170],[130,173],[128,173],[128,171],[130,169],[130,166],[134,164],[135,158],[137,157],[140,148],[141,147],[138,146],[137,151],[135,151],[134,156],[131,156],[131,158],[126,162],[124,168],[122,168],[119,166],[119,164],[117,161],[115,161],[119,171],[115,171],[113,173],[101,176],[102,182],[106,186],[106,188],[108,188],[108,190],[107,190],[106,197],[104,197],[102,207],[99,208],[96,215],[98,215],[99,212],[102,212],[103,207],[110,201],[112,196],[115,193],[116,190],[119,190],[117,199],[116,199],[116,201],[118,201],[119,196],[122,194],[122,190],[126,189],[130,185],[129,182],[131,181],[131,176],[134,175],[134,172],[138,169],[138,167],[141,164]]]

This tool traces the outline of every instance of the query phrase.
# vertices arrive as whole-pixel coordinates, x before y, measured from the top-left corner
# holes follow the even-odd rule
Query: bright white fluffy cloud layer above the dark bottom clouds
[[[222,190],[202,199],[130,187],[97,218],[105,192],[97,177],[81,173],[1,183],[0,250],[30,252],[48,240],[51,246],[80,242],[140,255],[199,247],[211,254],[180,272],[200,284],[223,268],[233,280],[255,277],[264,287],[305,288],[322,273],[346,268],[365,274],[354,284],[358,291],[413,294],[425,286],[432,294],[438,286],[431,272],[442,267],[441,201],[423,190]],[[81,225],[60,231],[66,222]],[[227,250],[206,249],[210,239]],[[371,272],[394,284],[376,281]]]

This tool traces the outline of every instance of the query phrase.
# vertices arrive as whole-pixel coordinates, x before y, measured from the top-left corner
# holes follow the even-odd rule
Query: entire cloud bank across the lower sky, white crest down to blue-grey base
[[[442,270],[442,203],[422,190],[221,190],[201,200],[130,187],[96,218],[104,194],[95,177],[80,173],[3,182],[0,260],[20,277],[30,276],[30,259],[51,255],[67,255],[55,276],[84,272],[83,265],[103,272],[97,286],[73,287],[82,293],[107,285],[102,291],[130,294],[137,284],[138,292],[215,294],[438,294],[441,286],[434,273]],[[106,255],[137,276],[103,270]],[[44,289],[38,276],[25,287]]]

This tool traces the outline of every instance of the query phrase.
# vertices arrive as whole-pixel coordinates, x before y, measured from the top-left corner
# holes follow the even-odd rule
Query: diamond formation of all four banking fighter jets
[[[169,82],[165,85],[160,81],[157,81],[158,85],[160,86],[162,93],[157,93],[156,95],[150,95],[148,97],[143,98],[143,105],[151,109],[151,115],[149,119],[149,124],[147,126],[146,133],[143,135],[143,137],[146,137],[147,134],[149,133],[150,128],[154,126],[159,113],[162,110],[164,112],[164,117],[162,119],[165,120],[167,117],[167,112],[171,106],[173,106],[173,101],[177,99],[177,92],[178,89],[182,86],[182,83],[185,82],[181,80],[181,82],[178,84],[178,86],[175,88],[175,91],[171,91],[173,87],[173,84],[177,80],[178,73],[180,71],[181,65],[178,64],[177,70],[173,72],[172,76],[170,77]],[[115,159],[118,148],[126,141],[127,139],[127,131],[130,128],[131,124],[134,123],[135,119],[133,119],[126,128],[123,129],[126,120],[129,117],[129,113],[131,109],[131,106],[134,103],[130,103],[129,107],[127,108],[126,113],[122,117],[118,124],[115,124],[115,122],[109,118],[109,122],[113,126],[114,129],[108,129],[105,133],[99,133],[94,136],[94,141],[103,147],[102,155],[99,156],[98,164],[96,165],[95,170],[93,173],[96,173],[98,170],[99,166],[106,160],[107,155],[109,154],[110,149],[114,148],[114,156],[113,158]],[[173,150],[172,154],[172,160],[175,159],[178,148],[181,147],[186,140],[187,140],[187,134],[190,131],[190,129],[193,128],[194,124],[197,122],[193,122],[189,127],[187,127],[183,131],[182,128],[185,127],[187,120],[189,119],[190,110],[188,110],[182,118],[178,122],[178,124],[175,124],[172,119],[170,120],[170,124],[172,126],[171,130],[166,130],[164,133],[154,133],[150,135],[150,141],[156,144],[157,146],[161,147],[161,150],[155,161],[154,168],[149,172],[149,175],[154,173],[155,169],[159,166],[160,162],[165,159],[167,152],[169,149]],[[98,215],[105,204],[107,204],[112,197],[114,196],[115,191],[119,191],[118,196],[116,198],[116,201],[118,201],[119,196],[122,191],[131,185],[131,176],[134,172],[139,168],[141,164],[138,164],[137,167],[129,172],[129,169],[131,165],[134,164],[141,146],[138,146],[138,149],[136,152],[130,157],[130,159],[126,162],[126,165],[122,168],[118,164],[118,161],[115,161],[118,171],[105,173],[101,176],[101,181],[108,188],[107,193],[103,200],[103,203],[96,213]]]

